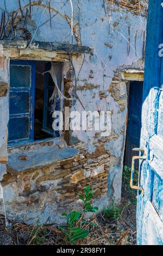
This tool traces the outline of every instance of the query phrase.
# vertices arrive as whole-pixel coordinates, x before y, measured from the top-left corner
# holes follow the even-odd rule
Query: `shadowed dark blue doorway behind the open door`
[[[128,117],[124,151],[124,165],[126,166],[131,166],[132,157],[139,155],[139,152],[133,151],[133,148],[140,148],[142,93],[143,82],[131,81],[128,83]],[[139,168],[138,161],[135,161],[135,168]]]

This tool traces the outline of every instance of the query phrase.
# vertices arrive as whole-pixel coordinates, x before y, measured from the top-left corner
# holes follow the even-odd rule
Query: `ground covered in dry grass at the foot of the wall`
[[[104,212],[92,217],[96,226],[88,226],[90,233],[76,245],[136,245],[136,194],[130,191],[128,175],[123,173],[122,200],[118,206],[120,216],[110,220]],[[68,245],[66,236],[57,225],[28,226],[9,222],[5,227],[4,216],[0,216],[0,245]]]

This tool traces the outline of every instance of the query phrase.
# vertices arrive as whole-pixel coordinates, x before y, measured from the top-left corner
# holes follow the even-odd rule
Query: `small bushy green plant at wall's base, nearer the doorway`
[[[112,204],[107,208],[103,209],[103,214],[106,218],[111,221],[117,220],[117,218],[121,218],[121,207],[117,206],[115,203],[115,199],[112,200]]]

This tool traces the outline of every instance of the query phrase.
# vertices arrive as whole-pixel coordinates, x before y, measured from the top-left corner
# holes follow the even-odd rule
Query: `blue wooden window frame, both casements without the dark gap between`
[[[61,87],[61,63],[57,67],[57,80]],[[51,69],[51,63],[45,64],[45,70]],[[36,62],[28,60],[10,61],[10,97],[9,97],[9,145],[34,141],[35,83]],[[52,129],[52,112],[50,97],[54,82],[49,73],[45,75],[45,94],[43,106],[42,131],[53,137],[59,137],[58,131]],[[58,98],[55,110],[60,109]]]

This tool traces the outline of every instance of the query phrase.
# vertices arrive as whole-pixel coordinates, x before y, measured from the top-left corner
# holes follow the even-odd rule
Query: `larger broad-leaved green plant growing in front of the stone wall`
[[[90,186],[84,188],[84,196],[82,196],[82,194],[78,194],[78,196],[84,203],[83,211],[72,211],[70,214],[64,212],[62,216],[66,217],[67,225],[62,225],[60,227],[71,244],[89,235],[89,230],[85,229],[85,225],[95,225],[95,223],[87,221],[85,219],[85,214],[87,212],[98,211],[98,207],[92,206],[90,202],[93,197],[93,190],[91,190]]]

